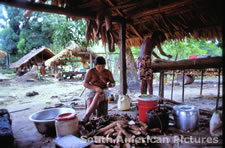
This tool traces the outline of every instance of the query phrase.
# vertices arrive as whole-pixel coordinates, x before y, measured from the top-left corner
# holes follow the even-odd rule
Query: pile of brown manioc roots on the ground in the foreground
[[[160,133],[160,129],[148,129],[147,124],[134,121],[126,114],[94,118],[80,131],[83,139],[109,147],[148,147],[152,141],[150,136]]]

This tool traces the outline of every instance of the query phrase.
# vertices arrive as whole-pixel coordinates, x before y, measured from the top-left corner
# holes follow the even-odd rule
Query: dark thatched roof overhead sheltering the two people
[[[197,39],[222,38],[222,0],[67,0],[63,6],[53,6],[50,1],[53,0],[44,4],[21,0],[3,0],[0,3],[33,11],[65,14],[74,20],[95,20],[100,11],[110,11],[112,32],[117,44],[120,41],[120,24],[122,21],[127,23],[127,46],[140,46],[143,39],[151,36],[155,30],[164,32],[167,40],[191,36]],[[106,42],[105,26],[101,33],[103,43]]]

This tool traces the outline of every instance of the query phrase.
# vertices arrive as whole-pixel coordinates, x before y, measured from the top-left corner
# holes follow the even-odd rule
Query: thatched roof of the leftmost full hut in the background
[[[45,60],[53,57],[55,54],[46,47],[40,47],[38,49],[33,49],[31,52],[23,56],[21,59],[16,61],[15,63],[12,63],[10,65],[10,68],[19,68],[23,65],[31,64],[33,65],[35,62],[36,64],[39,62],[44,62]]]

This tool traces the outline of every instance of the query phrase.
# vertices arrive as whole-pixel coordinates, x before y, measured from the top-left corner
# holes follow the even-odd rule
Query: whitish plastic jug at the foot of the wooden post
[[[119,95],[117,107],[118,110],[129,110],[130,109],[130,97],[128,95]]]

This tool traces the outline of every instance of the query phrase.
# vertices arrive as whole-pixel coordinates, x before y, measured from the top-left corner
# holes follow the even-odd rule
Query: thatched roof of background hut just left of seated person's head
[[[65,62],[69,60],[70,57],[81,57],[81,62],[86,63],[86,62],[89,62],[90,56],[89,54],[85,54],[85,53],[91,53],[92,60],[97,56],[93,51],[87,48],[82,48],[78,46],[77,44],[73,43],[69,47],[66,47],[60,53],[55,55],[54,57],[45,61],[45,65],[46,66],[65,65],[66,64]]]

